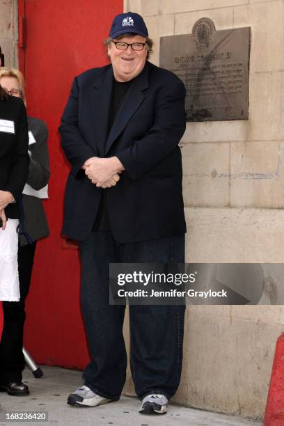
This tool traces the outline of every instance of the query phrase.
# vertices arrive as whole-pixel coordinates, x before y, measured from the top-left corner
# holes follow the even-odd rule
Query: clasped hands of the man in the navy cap
[[[119,173],[125,170],[118,157],[90,157],[84,162],[82,168],[97,188],[114,187],[120,180]]]

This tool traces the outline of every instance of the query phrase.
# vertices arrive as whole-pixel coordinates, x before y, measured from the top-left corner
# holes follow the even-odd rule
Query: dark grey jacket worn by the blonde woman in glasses
[[[29,131],[32,132],[35,143],[29,145],[31,152],[29,174],[26,183],[38,191],[49,181],[49,155],[47,150],[48,131],[44,121],[39,118],[28,117]],[[33,241],[49,235],[49,228],[43,209],[42,200],[36,196],[23,194],[24,227]],[[28,244],[26,238],[19,237],[21,246]]]

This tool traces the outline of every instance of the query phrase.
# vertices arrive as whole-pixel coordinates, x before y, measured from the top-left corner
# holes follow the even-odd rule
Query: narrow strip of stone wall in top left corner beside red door
[[[0,47],[5,65],[17,67],[17,0],[0,0]]]

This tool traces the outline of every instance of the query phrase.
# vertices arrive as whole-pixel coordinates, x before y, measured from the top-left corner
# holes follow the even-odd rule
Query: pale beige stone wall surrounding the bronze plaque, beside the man
[[[284,1],[128,0],[127,10],[143,15],[156,65],[159,38],[191,33],[200,17],[251,27],[249,119],[188,123],[182,138],[187,262],[284,262]],[[188,306],[175,402],[262,418],[283,332],[283,306]]]

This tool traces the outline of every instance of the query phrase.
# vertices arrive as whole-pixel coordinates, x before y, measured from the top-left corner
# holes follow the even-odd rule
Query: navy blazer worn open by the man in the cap
[[[71,171],[65,189],[63,234],[90,235],[102,189],[81,166],[90,157],[116,156],[125,167],[106,189],[109,221],[118,242],[139,242],[186,232],[182,161],[178,143],[185,130],[182,81],[145,63],[133,80],[108,132],[113,86],[111,65],[74,79],[59,127]]]

